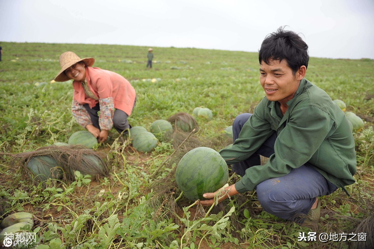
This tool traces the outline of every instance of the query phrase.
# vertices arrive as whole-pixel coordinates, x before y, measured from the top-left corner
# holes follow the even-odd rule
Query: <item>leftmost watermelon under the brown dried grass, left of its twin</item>
[[[48,178],[61,179],[62,169],[58,166],[57,161],[49,156],[35,156],[27,163],[27,168],[40,181],[45,181]]]

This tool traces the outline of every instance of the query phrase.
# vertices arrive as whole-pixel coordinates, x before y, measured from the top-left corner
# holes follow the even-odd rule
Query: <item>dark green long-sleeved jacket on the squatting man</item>
[[[301,80],[294,98],[287,104],[283,116],[278,101],[263,98],[233,146],[220,151],[231,165],[247,159],[277,132],[275,154],[265,165],[247,169],[236,182],[236,190],[251,191],[260,182],[287,175],[292,168],[308,162],[328,181],[346,191],[344,186],[355,182],[356,153],[344,112],[324,90],[306,79]]]

